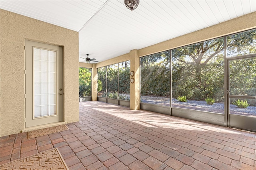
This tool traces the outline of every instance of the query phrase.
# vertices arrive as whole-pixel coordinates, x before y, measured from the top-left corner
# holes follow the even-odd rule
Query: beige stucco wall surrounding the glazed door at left
[[[78,32],[6,10],[0,14],[0,136],[25,129],[25,40],[63,46],[64,121],[78,121]]]

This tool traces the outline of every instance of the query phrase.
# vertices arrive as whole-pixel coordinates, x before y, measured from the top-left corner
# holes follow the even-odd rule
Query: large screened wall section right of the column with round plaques
[[[256,30],[141,57],[140,106],[256,131]]]

